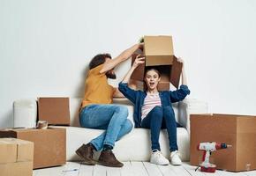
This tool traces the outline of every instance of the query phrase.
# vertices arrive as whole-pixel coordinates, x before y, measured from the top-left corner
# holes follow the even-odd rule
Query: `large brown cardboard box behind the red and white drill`
[[[199,165],[203,155],[197,150],[202,142],[232,145],[216,150],[211,160],[218,169],[239,172],[256,169],[256,116],[234,114],[191,115],[191,165]]]

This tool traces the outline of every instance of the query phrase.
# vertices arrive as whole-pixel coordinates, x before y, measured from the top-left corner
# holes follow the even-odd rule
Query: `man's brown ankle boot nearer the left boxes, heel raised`
[[[83,158],[84,163],[86,165],[95,165],[94,157],[94,147],[91,143],[83,144],[76,150],[76,153],[80,158]]]

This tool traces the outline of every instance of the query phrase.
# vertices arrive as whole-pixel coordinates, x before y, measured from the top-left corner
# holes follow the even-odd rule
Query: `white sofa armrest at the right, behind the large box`
[[[178,103],[178,122],[190,134],[190,114],[207,114],[207,103],[199,99],[184,99]]]

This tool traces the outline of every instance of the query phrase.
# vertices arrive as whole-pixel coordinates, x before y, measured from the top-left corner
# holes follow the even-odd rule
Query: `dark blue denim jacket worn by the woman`
[[[144,105],[144,99],[147,96],[147,92],[143,91],[134,91],[128,87],[127,83],[119,83],[118,89],[124,94],[124,97],[132,101],[134,105],[133,112],[133,121],[135,123],[135,128],[140,128],[141,125],[141,107]],[[180,85],[180,88],[177,91],[162,91],[159,92],[162,106],[171,106],[171,103],[175,103],[183,100],[190,90],[187,85]],[[171,106],[172,107],[172,106]]]

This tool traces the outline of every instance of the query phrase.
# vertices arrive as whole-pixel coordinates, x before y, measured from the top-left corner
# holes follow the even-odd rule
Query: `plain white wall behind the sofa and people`
[[[253,0],[0,0],[0,127],[11,127],[15,99],[81,97],[90,59],[144,34],[173,36],[191,98],[215,113],[256,114],[255,17]]]

